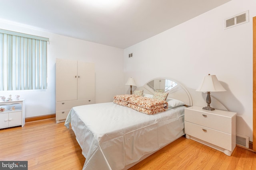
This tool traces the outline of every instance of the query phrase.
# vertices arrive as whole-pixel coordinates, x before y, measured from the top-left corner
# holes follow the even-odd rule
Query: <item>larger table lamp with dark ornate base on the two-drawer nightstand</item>
[[[224,92],[226,89],[220,84],[216,75],[204,76],[199,88],[196,90],[198,92],[207,92],[206,103],[207,106],[203,107],[205,110],[215,110],[214,108],[210,107],[212,102],[210,93],[211,92]]]

